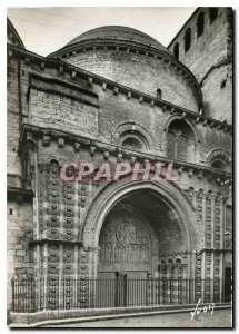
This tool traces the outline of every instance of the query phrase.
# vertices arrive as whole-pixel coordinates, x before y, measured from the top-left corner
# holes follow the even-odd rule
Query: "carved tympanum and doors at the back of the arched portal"
[[[130,208],[114,208],[103,223],[99,247],[99,307],[146,305],[147,272],[152,263],[151,237],[143,218]]]

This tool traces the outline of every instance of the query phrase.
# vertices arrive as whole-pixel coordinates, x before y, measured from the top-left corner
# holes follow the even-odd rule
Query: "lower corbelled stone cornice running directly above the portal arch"
[[[228,178],[228,177],[231,177],[231,175],[232,175],[231,173],[219,170],[217,168],[212,168],[209,166],[202,166],[202,165],[198,165],[198,164],[172,159],[172,158],[168,158],[165,156],[159,156],[157,154],[152,155],[152,154],[148,154],[148,153],[139,153],[136,150],[122,148],[121,146],[103,143],[98,139],[87,138],[86,136],[73,135],[73,134],[69,134],[69,131],[62,131],[62,130],[58,130],[58,129],[53,129],[53,128],[51,128],[51,129],[43,128],[43,127],[39,127],[36,125],[31,125],[31,124],[23,124],[23,126],[22,126],[20,140],[19,140],[19,148],[18,148],[19,154],[21,154],[21,151],[23,150],[23,148],[26,146],[26,138],[27,138],[27,134],[29,134],[29,132],[34,134],[34,136],[38,139],[42,139],[43,135],[48,134],[48,136],[50,138],[49,140],[58,140],[59,138],[63,138],[64,143],[68,143],[71,145],[74,145],[77,143],[79,145],[79,147],[88,147],[89,151],[90,151],[90,148],[93,147],[94,149],[97,149],[98,151],[101,151],[102,154],[109,153],[114,156],[120,155],[123,158],[127,158],[129,160],[132,157],[135,157],[139,161],[149,160],[149,161],[162,161],[166,164],[173,163],[173,166],[181,168],[183,170],[187,170],[187,173],[191,173],[191,175],[196,174],[198,177],[199,177],[200,173],[208,173],[213,176],[222,177],[222,178]]]

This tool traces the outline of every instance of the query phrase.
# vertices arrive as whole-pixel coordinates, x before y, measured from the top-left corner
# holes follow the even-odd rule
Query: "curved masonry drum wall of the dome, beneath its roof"
[[[79,52],[64,61],[153,97],[161,89],[163,100],[198,111],[195,88],[163,60],[135,51],[99,49]]]

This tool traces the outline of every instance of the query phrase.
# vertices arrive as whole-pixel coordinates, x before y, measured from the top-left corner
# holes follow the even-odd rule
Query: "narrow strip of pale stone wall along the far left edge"
[[[7,173],[8,191],[20,191],[21,158],[18,155],[21,108],[19,104],[18,60],[8,61],[7,91]],[[9,194],[8,194],[9,195]],[[7,204],[7,262],[8,262],[8,307],[11,304],[10,279],[16,275],[33,274],[33,249],[29,243],[33,238],[32,203],[26,202],[19,194],[8,197]]]

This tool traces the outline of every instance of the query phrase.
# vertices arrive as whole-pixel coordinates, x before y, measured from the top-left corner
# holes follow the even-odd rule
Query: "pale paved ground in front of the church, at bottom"
[[[216,310],[212,315],[208,311],[196,315],[193,320],[190,313],[178,313],[48,327],[231,327],[231,310]]]

